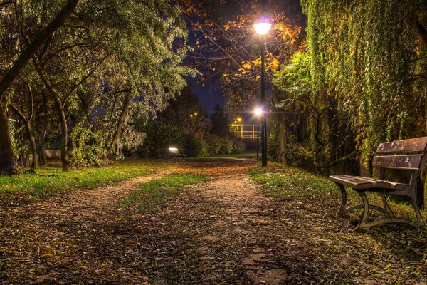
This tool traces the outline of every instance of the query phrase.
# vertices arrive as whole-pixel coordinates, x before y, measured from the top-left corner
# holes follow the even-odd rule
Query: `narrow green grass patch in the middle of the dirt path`
[[[196,184],[206,180],[207,176],[200,173],[173,173],[162,178],[142,184],[139,189],[122,200],[123,204],[155,205],[165,202],[169,197],[178,194],[185,185]]]

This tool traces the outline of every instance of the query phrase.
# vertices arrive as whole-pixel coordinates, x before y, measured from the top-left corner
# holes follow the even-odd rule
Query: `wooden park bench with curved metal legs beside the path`
[[[378,178],[352,175],[330,176],[330,179],[338,185],[342,194],[342,203],[337,214],[343,216],[347,212],[354,211],[355,209],[363,209],[362,219],[354,230],[392,222],[410,224],[415,227],[422,225],[423,219],[420,213],[420,206],[423,204],[423,201],[420,201],[421,199],[418,197],[417,183],[421,170],[426,168],[426,147],[427,137],[384,142],[377,148],[376,156],[372,163],[373,166],[379,170]],[[389,170],[406,170],[410,172],[411,178],[408,183],[385,180],[386,172]],[[347,203],[346,186],[351,187],[360,195],[362,204],[349,208],[345,207]],[[378,192],[381,195],[384,207],[370,205],[367,199],[367,192]],[[394,217],[394,213],[387,203],[387,197],[389,195],[408,197],[415,211],[416,222],[413,222],[411,219]],[[369,222],[369,209],[379,210],[385,214],[385,217]]]

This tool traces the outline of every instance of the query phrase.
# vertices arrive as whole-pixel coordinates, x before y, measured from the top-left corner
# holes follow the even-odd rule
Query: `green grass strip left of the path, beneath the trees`
[[[100,168],[63,172],[59,165],[42,167],[37,174],[0,176],[0,200],[32,199],[57,195],[64,190],[114,185],[132,177],[152,174],[169,167],[166,162],[127,160]],[[10,201],[9,201],[10,202]]]

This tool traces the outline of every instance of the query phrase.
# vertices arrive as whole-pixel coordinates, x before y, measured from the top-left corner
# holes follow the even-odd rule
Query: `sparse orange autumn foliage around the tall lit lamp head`
[[[266,36],[266,71],[278,69],[302,43],[300,6],[293,1],[189,1],[175,0],[194,30],[194,51],[188,64],[199,68],[199,78],[218,85],[226,93],[228,108],[241,110],[259,97],[260,46],[263,39],[253,24],[267,16],[273,28]],[[268,9],[266,9],[268,7]]]

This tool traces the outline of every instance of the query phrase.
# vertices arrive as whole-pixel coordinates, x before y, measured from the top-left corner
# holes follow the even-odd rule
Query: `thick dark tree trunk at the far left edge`
[[[16,165],[14,153],[12,152],[12,143],[9,132],[9,119],[6,115],[6,108],[0,103],[0,173],[12,175],[15,174]]]

